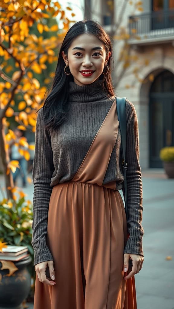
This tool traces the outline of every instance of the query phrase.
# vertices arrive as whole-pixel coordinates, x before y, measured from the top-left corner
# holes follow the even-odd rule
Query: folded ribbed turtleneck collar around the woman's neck
[[[79,86],[72,81],[69,82],[70,102],[94,102],[108,96],[109,94],[103,90],[100,80],[83,86]]]

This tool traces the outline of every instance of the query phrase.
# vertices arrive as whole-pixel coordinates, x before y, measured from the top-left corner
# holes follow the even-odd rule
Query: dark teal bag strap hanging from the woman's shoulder
[[[126,122],[126,98],[115,97],[117,104],[117,114],[119,120],[119,127],[121,131],[121,156],[122,156],[122,170],[124,175],[123,195],[125,202],[125,213],[128,221],[128,195],[127,195],[127,179],[126,179],[126,134],[127,134],[127,122]]]

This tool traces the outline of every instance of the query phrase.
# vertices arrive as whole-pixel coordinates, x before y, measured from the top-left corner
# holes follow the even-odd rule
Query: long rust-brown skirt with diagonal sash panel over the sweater
[[[124,280],[123,200],[115,181],[103,185],[118,126],[114,102],[73,179],[53,187],[46,243],[56,284],[36,275],[34,309],[137,309],[134,277]]]

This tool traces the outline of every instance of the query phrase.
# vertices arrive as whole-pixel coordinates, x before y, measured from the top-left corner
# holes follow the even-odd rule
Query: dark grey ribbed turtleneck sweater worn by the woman
[[[89,147],[115,98],[103,91],[100,81],[90,85],[69,84],[70,112],[67,120],[56,130],[45,130],[42,109],[38,112],[35,154],[33,162],[33,238],[34,265],[53,260],[46,245],[47,218],[51,191],[54,185],[71,180],[82,163]],[[142,181],[139,165],[138,122],[134,105],[126,101],[127,114],[127,187],[128,232],[130,237],[124,253],[143,256]],[[120,166],[120,129],[111,154],[103,184],[116,182],[122,189],[124,180]]]

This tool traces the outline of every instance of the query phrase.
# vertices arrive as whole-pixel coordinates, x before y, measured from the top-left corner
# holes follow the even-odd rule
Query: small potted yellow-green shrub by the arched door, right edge
[[[164,147],[159,153],[168,178],[174,178],[174,147]]]

